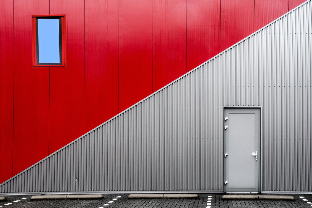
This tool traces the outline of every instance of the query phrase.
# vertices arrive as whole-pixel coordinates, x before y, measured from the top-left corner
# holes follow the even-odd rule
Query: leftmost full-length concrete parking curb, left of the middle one
[[[30,200],[103,199],[102,194],[37,195]]]

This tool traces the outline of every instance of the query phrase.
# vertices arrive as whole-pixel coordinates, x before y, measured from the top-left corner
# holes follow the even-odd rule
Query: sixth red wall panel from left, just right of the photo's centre
[[[186,73],[186,0],[154,1],[153,91]]]

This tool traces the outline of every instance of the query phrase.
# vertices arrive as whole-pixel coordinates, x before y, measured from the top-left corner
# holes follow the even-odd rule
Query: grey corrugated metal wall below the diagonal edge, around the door
[[[262,106],[262,191],[312,191],[311,5],[4,182],[0,193],[222,191],[222,107],[231,106]]]

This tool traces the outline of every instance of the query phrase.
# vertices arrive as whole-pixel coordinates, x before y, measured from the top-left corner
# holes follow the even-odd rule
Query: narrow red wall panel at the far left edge
[[[12,177],[13,2],[0,1],[0,183]],[[2,52],[3,51],[3,52]],[[5,52],[4,52],[5,51]]]

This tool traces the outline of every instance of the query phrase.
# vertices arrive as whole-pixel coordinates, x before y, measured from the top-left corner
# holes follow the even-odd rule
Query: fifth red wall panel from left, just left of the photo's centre
[[[120,0],[119,112],[153,92],[152,67],[153,1]]]

